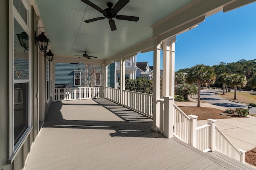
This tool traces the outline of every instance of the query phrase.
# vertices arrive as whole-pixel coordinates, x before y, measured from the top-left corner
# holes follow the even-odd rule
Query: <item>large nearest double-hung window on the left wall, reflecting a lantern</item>
[[[12,4],[13,2],[13,4]],[[12,5],[13,21],[10,29],[12,35],[12,44],[10,49],[10,68],[12,68],[12,76],[10,81],[10,129],[9,129],[9,156],[16,152],[21,147],[22,141],[27,137],[30,131],[30,110],[31,110],[31,84],[30,84],[30,69],[31,69],[31,39],[30,25],[28,17],[29,6],[24,0],[10,1]]]

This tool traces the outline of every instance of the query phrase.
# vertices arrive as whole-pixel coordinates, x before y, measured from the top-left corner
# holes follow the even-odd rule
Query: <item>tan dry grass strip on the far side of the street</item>
[[[219,93],[222,98],[228,100],[234,100],[234,92],[222,92]],[[256,103],[256,93],[255,92],[236,92],[236,100],[237,102],[242,102],[246,104]]]

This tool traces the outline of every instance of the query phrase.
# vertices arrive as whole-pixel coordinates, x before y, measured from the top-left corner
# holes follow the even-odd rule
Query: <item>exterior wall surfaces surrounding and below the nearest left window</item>
[[[32,87],[30,91],[30,96],[32,100],[32,104],[30,105],[30,119],[31,119],[31,131],[28,133],[27,137],[23,140],[21,147],[19,147],[18,151],[14,154],[10,153],[10,136],[9,131],[12,131],[12,128],[9,128],[10,114],[13,114],[13,111],[10,110],[10,106],[13,105],[9,103],[10,96],[9,90],[12,90],[13,84],[10,84],[9,77],[12,77],[12,72],[9,70],[9,58],[12,57],[12,52],[10,52],[10,42],[12,40],[9,39],[9,0],[1,0],[0,1],[0,71],[1,71],[1,81],[0,81],[0,169],[4,170],[22,170],[24,169],[24,164],[29,156],[29,152],[34,145],[34,141],[36,136],[38,135],[38,124],[37,124],[37,100],[34,100],[35,93],[37,93],[37,75],[34,70],[37,69],[37,59],[34,59],[33,55],[37,52],[34,51],[35,45],[31,45],[32,57],[31,57],[31,82],[30,86]],[[31,9],[33,11],[33,9]],[[11,13],[11,12],[10,12]],[[31,34],[34,35],[34,27],[36,27],[36,22],[34,18],[34,13],[31,14],[31,23],[32,23],[32,31]],[[12,26],[10,26],[12,27]],[[32,36],[30,35],[30,36]],[[33,39],[33,36],[32,36]],[[35,64],[35,65],[34,65]],[[34,81],[34,78],[36,80]],[[36,111],[36,112],[35,112]],[[12,116],[11,116],[12,117]],[[10,160],[9,155],[14,155],[14,157]]]

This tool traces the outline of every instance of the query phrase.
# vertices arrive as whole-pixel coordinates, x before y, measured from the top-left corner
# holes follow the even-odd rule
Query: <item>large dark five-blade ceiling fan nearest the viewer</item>
[[[116,18],[118,20],[127,20],[127,21],[138,21],[139,18],[135,16],[122,16],[122,15],[117,15],[117,13],[124,8],[124,6],[130,2],[130,0],[118,0],[114,7],[112,8],[113,4],[111,2],[107,3],[108,8],[102,10],[100,7],[95,5],[94,3],[90,2],[89,0],[81,0],[82,2],[86,3],[87,5],[91,6],[95,10],[99,11],[100,13],[103,14],[104,17],[97,17],[97,18],[92,18],[90,20],[85,20],[84,22],[89,23],[93,21],[98,21],[98,20],[103,20],[105,18],[108,18],[108,22],[110,25],[111,31],[116,30],[116,24],[113,18]]]

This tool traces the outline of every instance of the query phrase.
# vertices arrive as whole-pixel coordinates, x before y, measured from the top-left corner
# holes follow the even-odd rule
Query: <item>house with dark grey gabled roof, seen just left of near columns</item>
[[[138,78],[146,78],[148,80],[152,80],[153,78],[153,70],[151,70],[148,66],[148,62],[137,62],[137,77]]]

